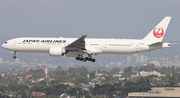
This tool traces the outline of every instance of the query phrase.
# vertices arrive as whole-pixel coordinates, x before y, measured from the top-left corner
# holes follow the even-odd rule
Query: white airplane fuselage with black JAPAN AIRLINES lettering
[[[65,47],[77,38],[30,38],[22,37],[8,40],[2,46],[15,52],[49,52],[50,47]],[[136,39],[86,38],[85,48],[92,54],[133,54],[160,49],[150,47],[150,41]]]

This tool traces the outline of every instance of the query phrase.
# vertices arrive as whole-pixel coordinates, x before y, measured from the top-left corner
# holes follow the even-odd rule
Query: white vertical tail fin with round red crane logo
[[[146,35],[146,37],[144,37],[143,40],[152,40],[155,42],[161,42],[165,35],[170,20],[171,17],[169,16],[165,17],[158,25],[156,25],[151,30],[151,32],[148,35]]]

